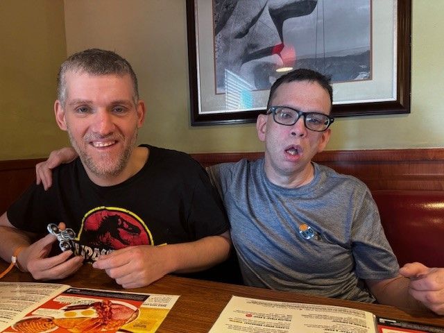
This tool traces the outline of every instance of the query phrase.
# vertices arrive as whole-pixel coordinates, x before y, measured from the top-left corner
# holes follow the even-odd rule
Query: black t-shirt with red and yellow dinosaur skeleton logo
[[[150,154],[135,176],[100,187],[79,159],[53,172],[53,186],[31,185],[8,210],[16,228],[45,233],[65,222],[76,232],[76,255],[93,261],[135,245],[177,244],[228,230],[228,220],[205,170],[189,155],[142,145]]]

